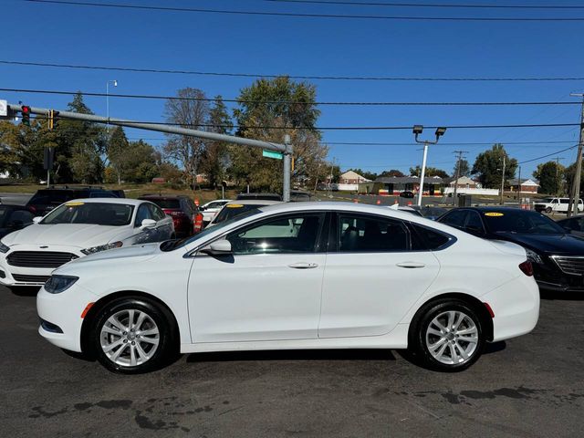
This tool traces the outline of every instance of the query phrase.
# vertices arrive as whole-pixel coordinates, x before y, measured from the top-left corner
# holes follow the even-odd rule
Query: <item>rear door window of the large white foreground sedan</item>
[[[382,217],[339,214],[339,252],[402,252],[410,250],[407,228]]]

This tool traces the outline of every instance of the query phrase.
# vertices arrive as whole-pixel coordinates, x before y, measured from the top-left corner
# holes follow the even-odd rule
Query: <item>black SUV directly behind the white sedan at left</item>
[[[103,187],[50,187],[36,191],[26,207],[36,216],[44,216],[61,203],[83,198],[121,198],[123,191],[105,190]]]

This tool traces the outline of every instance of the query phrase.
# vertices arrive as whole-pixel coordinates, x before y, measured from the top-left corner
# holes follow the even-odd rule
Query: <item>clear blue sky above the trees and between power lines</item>
[[[102,3],[108,3],[104,0]],[[112,2],[110,2],[112,3]],[[274,4],[261,0],[119,0],[135,5],[394,16],[584,16],[579,11],[484,11],[340,5]],[[420,2],[422,3],[422,2]],[[426,2],[429,3],[429,2]],[[453,2],[450,2],[453,3]],[[463,3],[463,2],[461,2]],[[507,4],[511,4],[508,2]],[[517,4],[518,2],[513,2]],[[551,0],[523,2],[552,4]],[[493,2],[492,4],[495,4]],[[565,1],[562,5],[581,5]],[[129,68],[167,68],[290,75],[392,77],[584,77],[581,35],[584,22],[420,22],[345,20],[122,10],[42,5],[2,0],[0,59]],[[162,75],[0,64],[0,87],[105,92],[117,79],[123,94],[173,95],[195,87],[212,97],[235,98],[251,78]],[[584,91],[579,82],[382,82],[315,80],[321,101],[570,101]],[[0,92],[11,102],[64,108],[70,97]],[[104,114],[105,98],[87,98]],[[110,116],[162,120],[162,100],[110,98]],[[320,126],[410,126],[422,124],[576,123],[578,106],[558,107],[322,107]],[[426,132],[432,137],[433,131]],[[506,145],[519,161],[565,149],[578,142],[577,127],[547,129],[449,130],[444,144],[430,149],[428,165],[452,172],[455,150],[474,162],[486,145],[475,142],[537,141]],[[162,134],[128,131],[131,138],[160,144]],[[330,147],[329,159],[343,169],[373,172],[408,168],[422,161],[410,130],[325,131],[330,142],[401,142],[401,146]],[[546,141],[567,141],[546,143]],[[450,145],[447,143],[463,143]],[[573,162],[576,150],[558,154]],[[539,162],[545,162],[543,159]],[[531,174],[537,162],[522,167]]]

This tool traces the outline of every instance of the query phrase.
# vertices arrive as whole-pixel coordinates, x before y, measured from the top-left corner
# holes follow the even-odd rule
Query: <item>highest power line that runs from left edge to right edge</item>
[[[548,77],[548,78],[412,78],[412,77],[390,77],[390,76],[315,76],[315,75],[287,75],[287,74],[263,74],[263,73],[232,73],[218,71],[198,71],[198,70],[178,70],[163,68],[130,68],[112,66],[87,66],[78,64],[57,64],[49,62],[14,61],[0,59],[0,64],[23,66],[23,67],[49,67],[49,68],[74,68],[87,70],[107,70],[107,71],[127,71],[132,73],[157,73],[170,75],[195,75],[195,76],[218,76],[229,78],[291,78],[306,80],[371,80],[371,81],[416,81],[416,82],[552,82],[552,81],[580,81],[584,77]]]

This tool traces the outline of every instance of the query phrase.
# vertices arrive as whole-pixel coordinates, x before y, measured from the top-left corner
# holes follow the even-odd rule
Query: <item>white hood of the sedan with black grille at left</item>
[[[80,248],[122,240],[126,227],[95,224],[32,224],[6,235],[5,245],[71,245]]]

